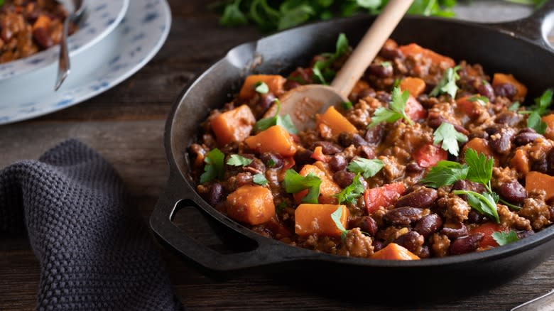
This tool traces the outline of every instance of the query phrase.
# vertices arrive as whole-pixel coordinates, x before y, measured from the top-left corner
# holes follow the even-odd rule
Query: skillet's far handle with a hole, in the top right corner
[[[552,50],[547,36],[554,27],[554,0],[546,1],[526,18],[504,23],[492,23],[491,26],[504,33],[509,33],[511,36],[531,41],[536,45]]]

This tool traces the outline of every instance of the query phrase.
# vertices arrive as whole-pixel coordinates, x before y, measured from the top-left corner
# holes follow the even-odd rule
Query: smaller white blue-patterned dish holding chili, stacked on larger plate
[[[85,21],[67,40],[71,57],[112,32],[129,7],[129,0],[87,0],[86,3]],[[59,46],[56,45],[28,58],[0,64],[0,82],[58,62],[59,50]]]

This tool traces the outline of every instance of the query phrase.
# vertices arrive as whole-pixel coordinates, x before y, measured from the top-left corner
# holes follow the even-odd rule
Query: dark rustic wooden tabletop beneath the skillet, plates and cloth
[[[173,27],[156,58],[119,86],[83,104],[0,126],[0,168],[16,160],[38,158],[67,138],[79,138],[114,165],[137,212],[148,219],[168,175],[162,136],[173,99],[227,50],[261,36],[254,27],[218,26],[217,16],[207,9],[206,1],[169,2]],[[182,218],[186,224],[186,215]],[[209,239],[203,227],[192,229],[199,239]],[[397,310],[371,302],[327,298],[266,275],[212,280],[172,253],[160,251],[176,293],[190,310]],[[0,275],[0,310],[31,310],[36,302],[40,268],[26,237],[0,237]],[[402,283],[398,288],[403,287]],[[553,287],[554,258],[550,258],[499,288],[440,304],[407,302],[405,310],[509,310]]]

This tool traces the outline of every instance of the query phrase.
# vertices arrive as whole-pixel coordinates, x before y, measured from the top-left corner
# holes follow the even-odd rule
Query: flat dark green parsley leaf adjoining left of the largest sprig
[[[433,188],[454,185],[458,180],[467,178],[468,170],[469,168],[465,164],[442,160],[433,166],[420,182]]]

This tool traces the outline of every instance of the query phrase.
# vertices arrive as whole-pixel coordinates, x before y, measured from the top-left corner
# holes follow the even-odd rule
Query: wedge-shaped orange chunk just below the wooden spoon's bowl
[[[251,149],[259,153],[274,152],[288,157],[296,153],[296,145],[293,138],[283,127],[274,125],[256,136],[250,136],[244,141]]]

